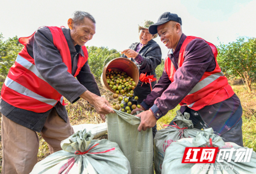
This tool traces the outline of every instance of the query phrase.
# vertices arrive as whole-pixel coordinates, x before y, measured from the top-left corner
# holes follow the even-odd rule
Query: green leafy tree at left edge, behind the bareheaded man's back
[[[0,86],[5,81],[10,67],[14,64],[22,48],[23,45],[20,44],[17,36],[3,41],[3,35],[0,34]]]

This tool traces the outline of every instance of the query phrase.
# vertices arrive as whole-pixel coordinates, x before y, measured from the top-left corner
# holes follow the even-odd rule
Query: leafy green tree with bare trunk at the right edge
[[[256,38],[240,37],[236,42],[218,46],[218,64],[230,76],[241,77],[249,92],[256,76]]]

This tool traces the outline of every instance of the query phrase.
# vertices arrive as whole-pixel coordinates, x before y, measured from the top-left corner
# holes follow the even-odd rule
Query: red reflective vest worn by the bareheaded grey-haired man
[[[71,56],[67,40],[61,30],[56,26],[48,27],[53,35],[53,44],[60,51],[62,61],[71,73]],[[28,54],[26,44],[34,33],[29,37],[20,38],[24,45],[17,59],[11,66],[6,80],[2,86],[1,98],[5,102],[17,108],[33,111],[46,112],[53,108],[58,101],[65,105],[63,96],[49,85],[38,72],[34,59]],[[88,53],[85,46],[82,46],[84,56],[79,54],[76,77],[83,65],[88,60]],[[56,70],[57,71],[57,70]]]

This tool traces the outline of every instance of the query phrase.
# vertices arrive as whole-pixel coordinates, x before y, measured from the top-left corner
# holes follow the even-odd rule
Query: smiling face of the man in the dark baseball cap
[[[161,41],[168,49],[176,49],[180,40],[182,31],[179,23],[174,21],[166,22],[157,26],[157,33]]]

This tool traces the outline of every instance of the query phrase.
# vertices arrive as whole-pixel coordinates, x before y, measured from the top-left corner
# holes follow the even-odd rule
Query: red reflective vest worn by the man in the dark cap
[[[180,48],[178,67],[182,66],[185,58],[184,55],[186,47],[188,43],[193,39],[202,38],[187,36]],[[189,108],[195,111],[202,109],[204,106],[222,102],[234,95],[232,87],[228,84],[227,78],[224,76],[217,63],[217,48],[210,42],[207,42],[207,44],[211,47],[212,52],[214,53],[216,67],[211,72],[204,72],[200,81],[180,102],[180,105],[187,105]],[[168,74],[169,79],[171,82],[173,82],[176,69],[174,68],[174,65],[172,64],[169,57],[166,57],[165,59],[164,68]]]

